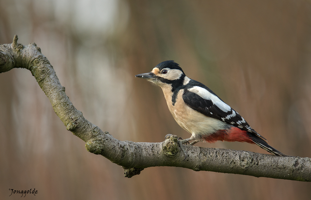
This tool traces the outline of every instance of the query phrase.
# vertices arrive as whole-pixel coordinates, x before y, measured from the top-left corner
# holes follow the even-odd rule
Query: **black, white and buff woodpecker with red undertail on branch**
[[[199,141],[214,143],[217,140],[248,142],[274,155],[287,156],[268,145],[264,137],[211,89],[188,78],[176,62],[161,62],[151,72],[135,77],[151,81],[162,88],[174,119],[192,134],[182,143],[190,140],[194,140],[190,145]]]

